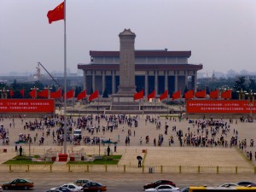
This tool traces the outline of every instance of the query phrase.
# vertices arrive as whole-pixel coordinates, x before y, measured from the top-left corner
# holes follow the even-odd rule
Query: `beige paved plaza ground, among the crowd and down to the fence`
[[[127,124],[119,124],[118,128],[113,129],[113,131],[102,131],[94,132],[93,135],[88,131],[84,130],[82,132],[83,137],[88,136],[92,137],[100,137],[105,139],[111,139],[111,141],[117,141],[119,139],[119,143],[117,145],[117,152],[113,154],[122,154],[122,159],[119,161],[119,165],[137,165],[137,155],[141,155],[144,157],[143,150],[147,150],[147,155],[144,160],[145,166],[252,166],[252,163],[255,165],[254,153],[256,151],[255,145],[253,147],[249,147],[249,141],[253,139],[256,140],[256,130],[255,123],[247,123],[240,122],[239,119],[233,119],[233,123],[230,124],[230,119],[224,119],[230,124],[230,132],[227,133],[227,136],[224,136],[224,139],[230,143],[230,138],[235,136],[235,131],[238,131],[238,141],[242,139],[247,139],[247,148],[244,148],[244,151],[252,151],[253,160],[246,160],[244,152],[237,148],[227,148],[217,146],[217,147],[192,147],[187,146],[186,144],[183,147],[180,147],[177,132],[178,130],[183,131],[183,136],[185,133],[192,131],[197,135],[196,129],[193,128],[193,125],[189,123],[189,119],[182,119],[179,121],[176,119],[166,119],[164,117],[158,117],[155,115],[150,115],[151,118],[157,119],[160,122],[160,128],[156,128],[155,123],[150,123],[149,121],[145,121],[146,115],[137,116],[138,126],[134,125],[128,126]],[[73,120],[76,120],[77,117],[73,117]],[[51,134],[49,137],[46,137],[46,130],[35,130],[30,131],[28,129],[24,129],[24,125],[26,122],[34,121],[34,118],[23,118],[23,122],[20,118],[4,118],[1,119],[0,124],[3,124],[5,129],[9,131],[9,145],[4,145],[2,140],[0,140],[1,148],[7,148],[7,153],[3,153],[1,150],[0,154],[0,163],[11,159],[15,154],[15,142],[19,140],[19,134],[30,134],[31,137],[43,137],[44,134],[44,144],[39,145],[38,140],[36,143],[32,143],[30,146],[31,154],[44,154],[47,148],[58,148],[61,150],[63,147],[59,146],[57,143],[53,143],[53,137]],[[40,119],[38,119],[40,120]],[[11,125],[10,125],[11,124]],[[93,125],[97,126],[98,122],[93,121]],[[107,121],[105,119],[101,119],[100,124],[107,125]],[[165,134],[165,125],[168,125],[167,134]],[[172,131],[172,126],[176,126],[176,131]],[[74,126],[73,126],[74,128]],[[50,128],[50,130],[57,130],[58,126]],[[130,145],[125,145],[125,137],[128,135],[128,130],[131,131],[131,143]],[[164,141],[161,146],[154,146],[154,138],[158,140],[159,135],[162,134],[164,137]],[[201,133],[200,133],[201,134]],[[199,135],[200,135],[199,134]],[[149,137],[149,142],[146,143],[145,137]],[[174,143],[169,146],[168,139],[169,137],[173,137]],[[215,136],[216,140],[221,136],[221,132],[217,133]],[[140,143],[140,139],[142,138],[142,144]],[[28,154],[29,146],[28,144],[21,144],[22,148]],[[20,147],[20,145],[18,146]],[[71,152],[72,150],[79,150],[80,148],[84,148],[86,154],[104,154],[104,151],[108,145],[92,145],[92,144],[84,144],[80,143],[80,145],[73,145],[73,143],[67,143],[67,151]],[[110,148],[113,150],[113,145],[110,145]]]

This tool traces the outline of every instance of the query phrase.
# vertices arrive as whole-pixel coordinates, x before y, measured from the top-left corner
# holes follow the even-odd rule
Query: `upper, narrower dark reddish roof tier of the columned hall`
[[[101,50],[90,50],[90,56],[113,56],[119,57],[119,51],[101,51]],[[135,56],[181,56],[181,57],[190,57],[191,51],[167,51],[167,50],[135,50]]]

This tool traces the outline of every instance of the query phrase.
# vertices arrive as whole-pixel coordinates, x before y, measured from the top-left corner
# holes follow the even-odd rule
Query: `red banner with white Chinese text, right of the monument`
[[[250,106],[247,100],[189,100],[187,113],[256,113],[255,104]]]

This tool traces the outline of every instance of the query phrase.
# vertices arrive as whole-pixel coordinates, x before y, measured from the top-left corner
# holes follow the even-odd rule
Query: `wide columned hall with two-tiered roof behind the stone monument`
[[[156,90],[159,96],[165,90],[169,95],[177,90],[196,89],[197,71],[201,64],[189,64],[191,51],[135,50],[135,84],[147,96]],[[119,87],[119,51],[90,51],[90,63],[79,63],[84,72],[84,89],[87,93],[105,89],[117,93]]]

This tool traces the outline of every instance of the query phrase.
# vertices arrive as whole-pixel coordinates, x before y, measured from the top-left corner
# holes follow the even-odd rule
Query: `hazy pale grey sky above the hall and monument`
[[[0,0],[0,74],[64,68],[64,21],[47,12],[61,0]],[[256,71],[256,0],[67,0],[67,68],[90,50],[119,50],[131,28],[135,49],[191,50],[203,72]],[[43,70],[42,70],[43,71]]]

